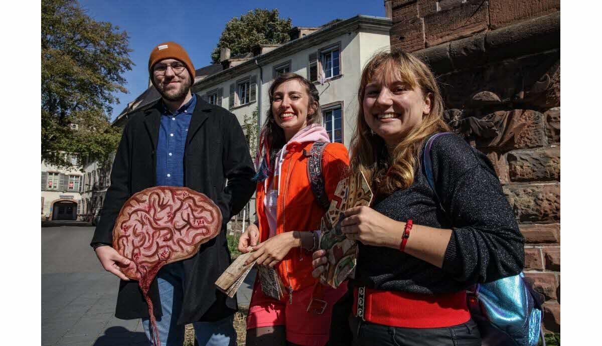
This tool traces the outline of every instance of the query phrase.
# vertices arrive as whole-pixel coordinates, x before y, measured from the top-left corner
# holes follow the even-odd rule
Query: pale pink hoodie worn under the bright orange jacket
[[[328,137],[328,132],[324,129],[320,124],[312,124],[306,126],[303,129],[300,129],[293,138],[291,138],[287,144],[282,147],[282,149],[276,154],[276,165],[274,167],[274,178],[272,179],[272,185],[267,186],[267,179],[265,179],[265,216],[267,216],[268,224],[270,225],[270,235],[269,238],[276,235],[276,206],[278,200],[279,186],[280,186],[280,167],[282,165],[282,161],[284,161],[284,155],[287,153],[287,147],[293,143],[308,143],[308,142],[316,142],[316,141],[324,141],[326,143],[330,143],[330,137]],[[275,185],[277,184],[277,185]]]

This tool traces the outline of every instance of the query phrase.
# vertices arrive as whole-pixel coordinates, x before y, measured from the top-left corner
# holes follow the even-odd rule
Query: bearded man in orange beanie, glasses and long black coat
[[[129,116],[90,245],[105,270],[122,279],[116,317],[142,318],[151,341],[154,331],[146,301],[137,282],[118,268],[129,260],[111,247],[115,220],[123,203],[145,188],[179,186],[204,193],[222,211],[221,232],[192,258],[161,268],[149,297],[161,345],[181,346],[188,323],[193,324],[199,345],[236,345],[232,327],[236,298],[217,290],[214,282],[231,263],[226,223],[255,191],[255,170],[243,130],[234,114],[191,93],[194,66],[178,43],[155,46],[148,69],[161,99]]]

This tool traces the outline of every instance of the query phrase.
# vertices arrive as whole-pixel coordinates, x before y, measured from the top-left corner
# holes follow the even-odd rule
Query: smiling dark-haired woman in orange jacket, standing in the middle
[[[258,222],[241,235],[238,250],[254,251],[247,263],[256,259],[259,265],[275,268],[286,292],[279,300],[268,297],[261,280],[256,280],[246,343],[323,346],[329,339],[332,306],[347,289],[346,285],[323,289],[321,308],[308,308],[314,304],[317,283],[311,276],[311,256],[318,248],[320,219],[326,212],[312,191],[308,158],[315,142],[330,139],[320,125],[320,96],[312,82],[285,73],[275,79],[269,94],[271,107],[259,138],[258,161],[263,157],[256,176]],[[347,174],[347,149],[340,143],[325,145],[320,163],[324,190],[332,200]]]

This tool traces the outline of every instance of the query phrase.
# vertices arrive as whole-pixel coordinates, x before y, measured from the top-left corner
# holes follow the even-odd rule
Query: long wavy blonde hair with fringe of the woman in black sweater
[[[412,128],[400,141],[393,155],[386,150],[385,141],[371,131],[364,119],[364,94],[366,85],[377,73],[396,73],[412,88],[420,88],[424,97],[430,98],[430,113]],[[414,173],[420,165],[420,150],[424,141],[437,132],[450,131],[443,119],[443,99],[433,73],[422,61],[403,51],[379,52],[362,71],[358,90],[358,119],[351,140],[351,171],[364,173],[373,191],[391,194],[406,189],[414,182]]]

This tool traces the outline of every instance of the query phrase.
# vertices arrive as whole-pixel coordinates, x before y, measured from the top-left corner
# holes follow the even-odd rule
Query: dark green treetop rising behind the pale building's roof
[[[280,45],[288,42],[291,19],[280,18],[278,8],[255,8],[226,23],[217,48],[211,53],[213,63],[220,62],[220,48],[230,48],[232,55],[245,54],[260,44]]]

